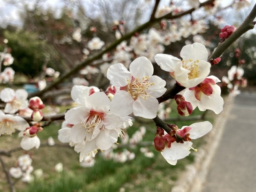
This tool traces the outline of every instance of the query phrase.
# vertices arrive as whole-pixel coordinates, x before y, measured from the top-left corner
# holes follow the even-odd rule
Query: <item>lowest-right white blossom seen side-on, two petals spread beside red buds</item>
[[[204,121],[193,123],[190,126],[183,126],[182,129],[177,129],[176,133],[181,137],[184,137],[185,134],[189,134],[190,139],[198,139],[211,131],[211,129],[212,124],[209,121]],[[171,143],[171,147],[164,149],[161,154],[169,164],[176,165],[177,160],[183,159],[190,154],[189,150],[193,149],[191,146],[191,141],[184,141],[184,143],[174,141]]]

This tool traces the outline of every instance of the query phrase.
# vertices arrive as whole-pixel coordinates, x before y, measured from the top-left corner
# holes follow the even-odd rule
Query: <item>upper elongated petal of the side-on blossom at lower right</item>
[[[182,129],[188,126],[183,126]],[[192,125],[189,125],[191,127],[191,130],[189,130],[189,138],[191,139],[198,139],[208,132],[212,130],[212,124],[209,121],[203,121],[199,123],[193,123]]]

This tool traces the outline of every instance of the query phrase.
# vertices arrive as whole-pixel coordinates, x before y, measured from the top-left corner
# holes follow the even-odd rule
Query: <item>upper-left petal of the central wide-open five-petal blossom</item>
[[[132,75],[122,63],[117,63],[109,67],[107,70],[107,78],[112,85],[123,87],[128,85],[127,80],[131,81]]]

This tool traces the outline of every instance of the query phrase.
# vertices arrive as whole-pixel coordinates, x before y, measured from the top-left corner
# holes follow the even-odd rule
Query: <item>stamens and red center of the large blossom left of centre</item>
[[[87,133],[93,134],[95,127],[97,127],[103,121],[103,116],[104,113],[90,111],[89,116],[84,118],[81,124],[87,129]]]

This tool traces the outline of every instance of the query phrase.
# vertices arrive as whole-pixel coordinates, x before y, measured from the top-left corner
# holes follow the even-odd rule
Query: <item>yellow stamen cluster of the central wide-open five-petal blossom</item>
[[[131,82],[130,80],[127,80],[128,82],[128,93],[131,93],[133,96],[133,99],[137,99],[138,97],[142,97],[146,100],[146,96],[151,97],[150,95],[147,95],[145,92],[146,89],[149,89],[151,85],[154,85],[155,83],[149,83],[149,77],[145,76],[141,79],[139,78],[132,78]]]

